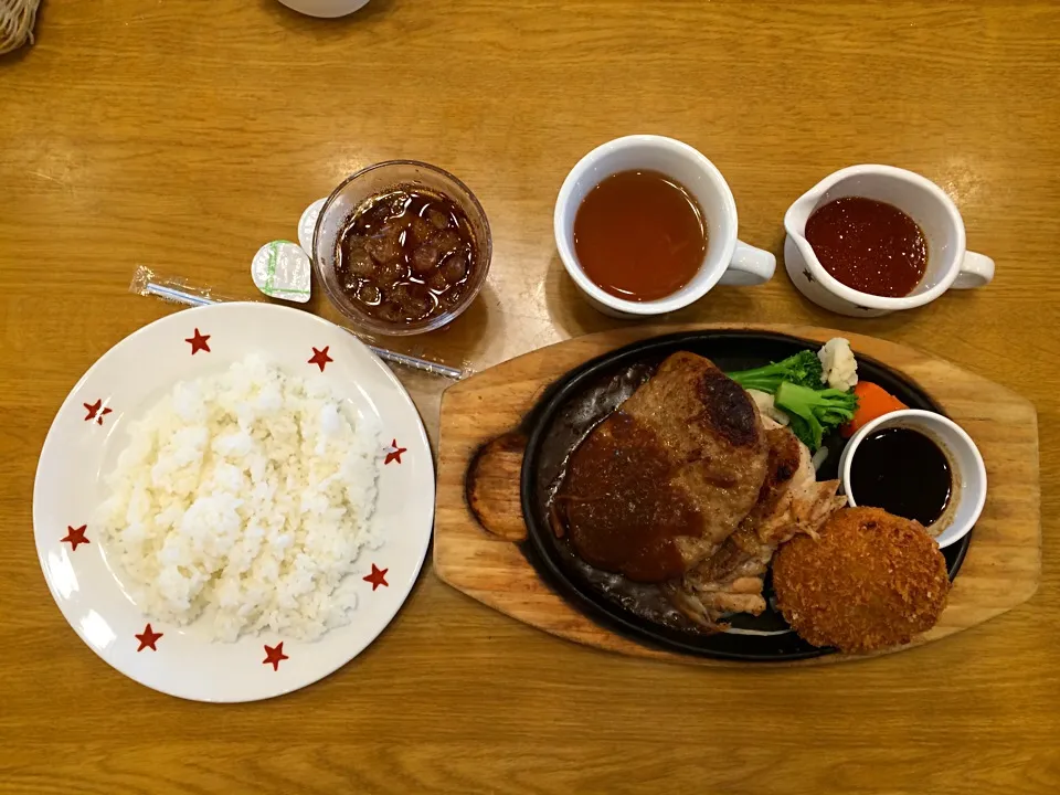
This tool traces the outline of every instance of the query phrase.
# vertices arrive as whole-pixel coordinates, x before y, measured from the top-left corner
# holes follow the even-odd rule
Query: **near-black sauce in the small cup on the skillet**
[[[859,506],[882,508],[924,527],[945,511],[952,489],[946,454],[911,428],[869,434],[850,463],[850,491]]]

